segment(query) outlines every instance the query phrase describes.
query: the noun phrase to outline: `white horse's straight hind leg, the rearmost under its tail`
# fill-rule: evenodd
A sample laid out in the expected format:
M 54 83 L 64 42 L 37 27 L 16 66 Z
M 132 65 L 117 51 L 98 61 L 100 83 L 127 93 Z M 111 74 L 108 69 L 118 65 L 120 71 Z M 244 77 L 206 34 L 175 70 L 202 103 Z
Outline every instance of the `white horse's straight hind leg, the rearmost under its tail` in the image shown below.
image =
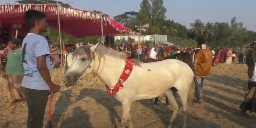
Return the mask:
M 178 91 L 180 96 L 181 104 L 182 104 L 182 112 L 183 112 L 183 127 L 187 127 L 187 113 L 188 113 L 188 94 L 183 91 Z

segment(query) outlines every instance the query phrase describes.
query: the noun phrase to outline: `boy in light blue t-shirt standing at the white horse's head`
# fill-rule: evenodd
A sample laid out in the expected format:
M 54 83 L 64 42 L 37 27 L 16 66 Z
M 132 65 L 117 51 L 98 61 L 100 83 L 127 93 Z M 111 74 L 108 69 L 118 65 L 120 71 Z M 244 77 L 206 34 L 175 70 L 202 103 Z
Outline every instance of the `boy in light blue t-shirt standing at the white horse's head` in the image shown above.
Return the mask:
M 51 80 L 48 41 L 41 36 L 48 30 L 45 14 L 37 10 L 27 10 L 24 20 L 30 28 L 22 43 L 25 73 L 21 88 L 28 106 L 27 128 L 42 128 L 49 91 L 56 93 L 60 86 Z

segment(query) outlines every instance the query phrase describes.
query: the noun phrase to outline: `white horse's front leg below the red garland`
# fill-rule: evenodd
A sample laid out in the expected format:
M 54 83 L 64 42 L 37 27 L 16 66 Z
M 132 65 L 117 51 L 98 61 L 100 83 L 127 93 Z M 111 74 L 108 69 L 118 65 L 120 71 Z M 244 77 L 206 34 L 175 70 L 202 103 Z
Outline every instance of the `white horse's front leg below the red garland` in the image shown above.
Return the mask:
M 122 102 L 122 105 L 123 105 L 123 117 L 121 120 L 121 127 L 125 128 L 128 123 L 128 128 L 133 128 L 131 116 L 129 114 L 131 105 L 132 105 L 132 101 L 124 101 L 124 102 Z

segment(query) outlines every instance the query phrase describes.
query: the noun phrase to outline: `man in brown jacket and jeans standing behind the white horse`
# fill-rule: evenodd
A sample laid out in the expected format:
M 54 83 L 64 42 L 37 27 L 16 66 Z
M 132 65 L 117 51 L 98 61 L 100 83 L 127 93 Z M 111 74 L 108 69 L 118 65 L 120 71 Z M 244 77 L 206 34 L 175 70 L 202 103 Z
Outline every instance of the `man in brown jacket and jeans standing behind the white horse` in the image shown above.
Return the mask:
M 196 69 L 194 82 L 196 85 L 197 103 L 194 106 L 204 107 L 203 86 L 206 76 L 210 73 L 213 53 L 206 48 L 205 38 L 197 39 L 197 50 L 194 53 L 193 63 Z

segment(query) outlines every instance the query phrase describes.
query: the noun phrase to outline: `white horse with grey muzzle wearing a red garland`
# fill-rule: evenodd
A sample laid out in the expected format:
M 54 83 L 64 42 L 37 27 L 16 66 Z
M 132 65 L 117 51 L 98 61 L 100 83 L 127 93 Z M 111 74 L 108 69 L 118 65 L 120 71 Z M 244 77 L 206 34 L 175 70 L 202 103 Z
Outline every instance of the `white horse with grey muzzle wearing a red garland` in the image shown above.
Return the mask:
M 99 44 L 99 43 L 98 43 Z M 176 59 L 169 59 L 153 63 L 141 63 L 133 61 L 127 70 L 127 54 L 117 50 L 107 49 L 101 45 L 80 46 L 73 53 L 73 62 L 65 74 L 66 86 L 71 86 L 81 76 L 92 72 L 99 74 L 99 78 L 106 83 L 110 89 L 114 89 L 117 83 L 121 83 L 114 96 L 123 105 L 123 116 L 121 127 L 133 128 L 132 119 L 129 114 L 131 103 L 140 99 L 152 99 L 165 93 L 174 106 L 174 112 L 170 120 L 169 128 L 172 128 L 181 108 L 174 98 L 172 89 L 177 89 L 183 110 L 183 128 L 187 127 L 188 97 L 193 90 L 193 71 L 185 63 Z M 125 69 L 125 71 L 124 71 Z M 125 72 L 125 73 L 124 73 Z M 120 80 L 120 76 L 129 74 L 128 79 Z M 126 79 L 126 78 L 125 78 Z M 121 82 L 120 82 L 121 81 Z M 189 94 L 190 93 L 190 94 Z

